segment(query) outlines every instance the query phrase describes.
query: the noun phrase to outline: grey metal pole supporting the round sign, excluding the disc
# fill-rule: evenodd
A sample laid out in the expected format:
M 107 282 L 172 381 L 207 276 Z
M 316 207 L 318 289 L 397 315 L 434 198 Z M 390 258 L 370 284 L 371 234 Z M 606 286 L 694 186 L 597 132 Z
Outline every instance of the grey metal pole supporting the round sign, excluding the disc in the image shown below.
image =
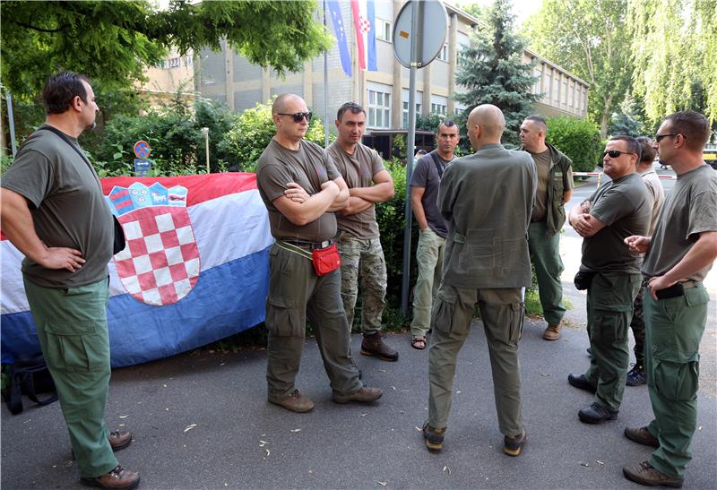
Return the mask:
M 411 2 L 410 76 L 409 76 L 409 133 L 406 142 L 406 226 L 403 228 L 403 276 L 401 313 L 408 316 L 410 289 L 410 176 L 413 174 L 413 155 L 416 153 L 416 69 L 419 59 L 419 17 L 423 16 L 423 2 Z

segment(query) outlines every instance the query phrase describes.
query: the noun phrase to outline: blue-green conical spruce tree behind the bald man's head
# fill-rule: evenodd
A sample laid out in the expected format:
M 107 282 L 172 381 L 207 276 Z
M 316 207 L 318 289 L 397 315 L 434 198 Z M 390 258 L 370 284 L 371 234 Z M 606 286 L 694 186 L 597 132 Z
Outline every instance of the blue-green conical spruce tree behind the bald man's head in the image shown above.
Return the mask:
M 510 9 L 510 0 L 495 0 L 486 13 L 488 27 L 479 26 L 471 46 L 464 47 L 458 55 L 455 80 L 467 91 L 455 94 L 454 99 L 466 106 L 459 116 L 466 150 L 470 142 L 465 137 L 465 122 L 473 107 L 480 104 L 499 107 L 505 115 L 503 142 L 517 145 L 520 125 L 538 99 L 532 93 L 536 81 L 531 75 L 532 64 L 522 62 L 527 43 L 516 34 Z

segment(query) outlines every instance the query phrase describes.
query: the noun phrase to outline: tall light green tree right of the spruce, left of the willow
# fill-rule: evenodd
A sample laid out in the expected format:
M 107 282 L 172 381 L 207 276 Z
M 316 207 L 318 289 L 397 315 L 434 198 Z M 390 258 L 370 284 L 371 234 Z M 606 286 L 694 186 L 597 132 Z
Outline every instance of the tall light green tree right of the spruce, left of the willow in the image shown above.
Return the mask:
M 625 0 L 545 0 L 527 22 L 531 47 L 590 83 L 588 114 L 608 134 L 633 73 Z

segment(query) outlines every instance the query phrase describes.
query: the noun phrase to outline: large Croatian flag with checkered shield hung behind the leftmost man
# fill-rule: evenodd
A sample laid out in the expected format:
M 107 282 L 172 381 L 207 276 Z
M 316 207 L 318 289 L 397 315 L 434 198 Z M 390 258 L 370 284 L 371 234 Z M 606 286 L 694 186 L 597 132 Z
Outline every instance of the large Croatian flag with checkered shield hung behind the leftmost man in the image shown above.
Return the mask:
M 101 179 L 125 230 L 109 269 L 112 365 L 198 348 L 264 319 L 273 238 L 254 174 Z M 2 361 L 39 353 L 22 254 L 2 239 Z

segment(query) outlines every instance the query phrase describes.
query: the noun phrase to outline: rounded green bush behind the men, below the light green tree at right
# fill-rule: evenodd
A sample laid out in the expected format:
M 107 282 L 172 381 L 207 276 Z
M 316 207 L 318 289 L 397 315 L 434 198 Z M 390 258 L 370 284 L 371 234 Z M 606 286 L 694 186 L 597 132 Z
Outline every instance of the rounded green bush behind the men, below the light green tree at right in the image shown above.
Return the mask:
M 592 172 L 600 163 L 603 144 L 598 127 L 587 119 L 548 117 L 546 141 L 573 160 L 574 172 Z

